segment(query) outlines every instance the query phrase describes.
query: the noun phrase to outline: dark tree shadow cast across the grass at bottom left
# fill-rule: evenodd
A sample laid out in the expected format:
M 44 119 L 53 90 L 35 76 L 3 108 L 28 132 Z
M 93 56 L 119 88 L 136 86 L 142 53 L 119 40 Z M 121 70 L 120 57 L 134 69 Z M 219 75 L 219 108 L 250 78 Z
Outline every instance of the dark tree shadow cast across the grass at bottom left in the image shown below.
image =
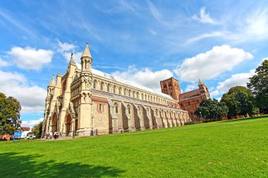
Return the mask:
M 81 163 L 35 161 L 42 155 L 0 154 L 0 177 L 120 177 L 125 172 L 114 167 Z

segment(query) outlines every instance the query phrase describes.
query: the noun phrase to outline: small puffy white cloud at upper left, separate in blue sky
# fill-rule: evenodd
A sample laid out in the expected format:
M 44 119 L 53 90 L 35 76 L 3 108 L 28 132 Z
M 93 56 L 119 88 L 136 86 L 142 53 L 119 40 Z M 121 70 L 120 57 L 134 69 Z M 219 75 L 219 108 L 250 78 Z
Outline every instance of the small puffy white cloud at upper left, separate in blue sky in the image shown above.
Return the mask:
M 51 63 L 53 56 L 53 51 L 51 50 L 34 49 L 31 47 L 26 47 L 25 49 L 13 47 L 7 53 L 18 68 L 26 70 L 40 70 L 43 65 Z

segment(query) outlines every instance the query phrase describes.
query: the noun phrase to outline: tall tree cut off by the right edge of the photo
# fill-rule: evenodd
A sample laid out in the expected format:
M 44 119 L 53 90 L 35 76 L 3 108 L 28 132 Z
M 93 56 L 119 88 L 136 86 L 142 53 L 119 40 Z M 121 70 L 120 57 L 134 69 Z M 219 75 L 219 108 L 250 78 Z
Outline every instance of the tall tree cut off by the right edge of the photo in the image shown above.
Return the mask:
M 256 68 L 256 75 L 250 77 L 247 83 L 248 88 L 252 91 L 256 99 L 256 106 L 268 112 L 268 60 Z

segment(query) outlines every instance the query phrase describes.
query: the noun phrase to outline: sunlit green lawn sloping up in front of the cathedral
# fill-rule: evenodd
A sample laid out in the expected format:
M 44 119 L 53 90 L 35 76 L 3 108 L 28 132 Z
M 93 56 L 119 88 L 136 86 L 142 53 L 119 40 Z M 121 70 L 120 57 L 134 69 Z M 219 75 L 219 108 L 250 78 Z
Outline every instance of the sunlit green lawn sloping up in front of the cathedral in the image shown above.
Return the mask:
M 268 177 L 268 116 L 0 143 L 0 177 Z

